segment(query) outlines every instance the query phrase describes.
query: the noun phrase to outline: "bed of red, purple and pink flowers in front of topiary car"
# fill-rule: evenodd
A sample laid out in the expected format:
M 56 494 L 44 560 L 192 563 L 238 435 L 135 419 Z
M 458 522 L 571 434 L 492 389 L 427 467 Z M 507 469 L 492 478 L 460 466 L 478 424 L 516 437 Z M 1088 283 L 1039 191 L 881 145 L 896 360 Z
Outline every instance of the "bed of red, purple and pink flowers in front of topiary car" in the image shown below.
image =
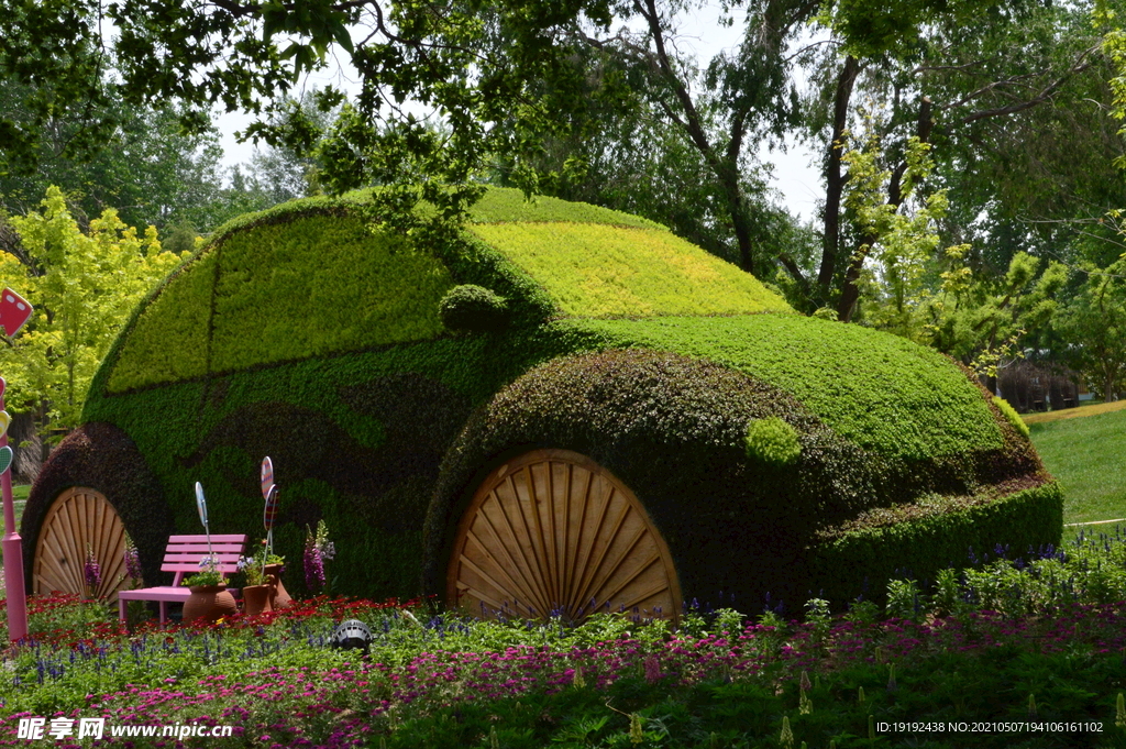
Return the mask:
M 778 601 L 748 619 L 689 601 L 676 628 L 320 597 L 129 632 L 98 604 L 41 597 L 34 639 L 3 656 L 0 744 L 27 746 L 19 720 L 39 716 L 231 725 L 209 740 L 247 747 L 1126 746 L 1120 535 L 969 554 L 933 582 L 894 580 L 883 610 L 814 598 L 801 621 Z M 367 654 L 329 648 L 347 618 L 370 627 Z

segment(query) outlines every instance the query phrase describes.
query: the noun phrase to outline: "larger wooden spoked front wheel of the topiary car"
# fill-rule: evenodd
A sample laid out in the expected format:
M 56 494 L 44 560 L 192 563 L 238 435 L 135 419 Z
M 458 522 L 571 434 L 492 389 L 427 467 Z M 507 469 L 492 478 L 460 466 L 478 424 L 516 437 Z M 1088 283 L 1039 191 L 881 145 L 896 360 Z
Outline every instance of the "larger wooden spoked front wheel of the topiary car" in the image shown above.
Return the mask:
M 539 449 L 477 488 L 455 537 L 447 601 L 486 616 L 676 619 L 669 549 L 633 492 L 588 457 Z

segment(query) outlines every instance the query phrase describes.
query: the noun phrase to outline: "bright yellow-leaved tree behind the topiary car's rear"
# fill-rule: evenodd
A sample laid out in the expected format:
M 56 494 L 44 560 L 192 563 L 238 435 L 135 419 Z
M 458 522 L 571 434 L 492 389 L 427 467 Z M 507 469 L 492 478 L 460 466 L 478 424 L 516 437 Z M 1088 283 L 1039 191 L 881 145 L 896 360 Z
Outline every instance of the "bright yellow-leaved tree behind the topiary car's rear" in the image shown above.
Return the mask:
M 0 252 L 0 284 L 35 314 L 0 346 L 0 376 L 8 410 L 34 413 L 41 433 L 57 436 L 78 426 L 90 381 L 129 313 L 182 258 L 161 250 L 154 228 L 138 237 L 111 208 L 83 232 L 57 187 L 41 211 L 8 221 L 24 257 Z

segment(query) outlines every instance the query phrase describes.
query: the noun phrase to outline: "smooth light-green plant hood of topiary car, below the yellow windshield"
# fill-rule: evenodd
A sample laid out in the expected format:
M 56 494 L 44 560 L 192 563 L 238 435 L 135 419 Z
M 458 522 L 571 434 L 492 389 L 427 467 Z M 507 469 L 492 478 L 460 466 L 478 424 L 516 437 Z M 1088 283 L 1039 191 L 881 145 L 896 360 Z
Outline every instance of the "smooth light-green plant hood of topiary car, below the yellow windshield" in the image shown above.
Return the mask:
M 980 386 L 933 349 L 796 314 L 565 320 L 591 348 L 651 348 L 731 366 L 792 393 L 846 439 L 897 458 L 999 449 Z

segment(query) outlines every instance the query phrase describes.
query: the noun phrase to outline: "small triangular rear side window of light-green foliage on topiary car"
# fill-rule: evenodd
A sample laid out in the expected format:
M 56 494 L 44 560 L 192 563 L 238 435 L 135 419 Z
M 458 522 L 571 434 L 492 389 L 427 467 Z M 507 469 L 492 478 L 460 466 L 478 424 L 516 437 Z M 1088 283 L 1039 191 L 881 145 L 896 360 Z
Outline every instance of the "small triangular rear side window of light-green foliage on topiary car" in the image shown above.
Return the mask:
M 207 372 L 215 256 L 184 266 L 136 320 L 125 339 L 109 391 L 198 377 Z

